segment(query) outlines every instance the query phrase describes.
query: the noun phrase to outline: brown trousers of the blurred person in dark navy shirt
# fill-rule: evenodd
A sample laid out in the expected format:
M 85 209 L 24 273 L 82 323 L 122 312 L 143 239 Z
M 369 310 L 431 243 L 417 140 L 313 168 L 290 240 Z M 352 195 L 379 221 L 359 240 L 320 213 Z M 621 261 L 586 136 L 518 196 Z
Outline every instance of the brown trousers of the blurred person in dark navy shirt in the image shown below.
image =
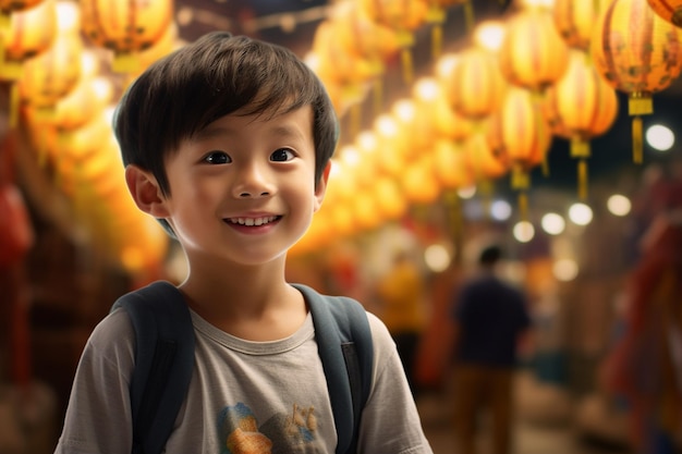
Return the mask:
M 458 364 L 454 372 L 456 454 L 475 454 L 478 421 L 489 417 L 492 453 L 512 451 L 513 370 Z

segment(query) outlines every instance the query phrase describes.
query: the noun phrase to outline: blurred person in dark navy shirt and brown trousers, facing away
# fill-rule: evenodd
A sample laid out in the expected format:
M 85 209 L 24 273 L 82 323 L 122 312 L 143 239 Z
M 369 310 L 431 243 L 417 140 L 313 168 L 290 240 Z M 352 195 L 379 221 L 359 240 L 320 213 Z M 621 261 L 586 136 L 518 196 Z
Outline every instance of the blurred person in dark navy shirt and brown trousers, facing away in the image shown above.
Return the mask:
M 453 295 L 454 429 L 458 454 L 476 452 L 482 417 L 491 422 L 492 452 L 509 454 L 519 346 L 527 342 L 525 295 L 497 273 L 502 249 L 480 253 L 479 272 Z

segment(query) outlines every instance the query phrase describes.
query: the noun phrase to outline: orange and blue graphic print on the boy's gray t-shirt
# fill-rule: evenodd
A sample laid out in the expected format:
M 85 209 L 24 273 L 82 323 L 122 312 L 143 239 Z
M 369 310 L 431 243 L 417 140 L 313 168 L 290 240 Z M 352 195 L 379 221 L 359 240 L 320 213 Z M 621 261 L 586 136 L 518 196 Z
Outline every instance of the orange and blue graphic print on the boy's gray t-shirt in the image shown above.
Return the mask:
M 293 404 L 292 412 L 276 414 L 261 426 L 241 402 L 218 415 L 220 454 L 321 453 L 316 432 L 313 406 Z

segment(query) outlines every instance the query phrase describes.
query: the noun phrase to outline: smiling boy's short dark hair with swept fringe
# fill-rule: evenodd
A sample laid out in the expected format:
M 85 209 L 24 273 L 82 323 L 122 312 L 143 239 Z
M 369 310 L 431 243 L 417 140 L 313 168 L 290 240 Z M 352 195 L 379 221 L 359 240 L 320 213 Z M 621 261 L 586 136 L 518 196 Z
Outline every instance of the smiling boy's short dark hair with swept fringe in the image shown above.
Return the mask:
M 147 68 L 123 95 L 113 131 L 123 163 L 150 171 L 170 195 L 165 160 L 183 139 L 240 109 L 275 118 L 305 106 L 313 108 L 317 186 L 339 138 L 320 79 L 284 47 L 212 32 Z

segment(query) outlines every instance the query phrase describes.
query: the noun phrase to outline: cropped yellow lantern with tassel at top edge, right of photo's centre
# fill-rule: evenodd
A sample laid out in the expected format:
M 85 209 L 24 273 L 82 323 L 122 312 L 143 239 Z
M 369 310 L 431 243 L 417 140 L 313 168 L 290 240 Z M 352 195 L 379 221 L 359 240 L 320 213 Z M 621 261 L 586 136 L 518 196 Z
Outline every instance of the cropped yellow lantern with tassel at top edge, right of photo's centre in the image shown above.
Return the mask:
M 401 49 L 403 81 L 412 83 L 414 32 L 426 21 L 424 0 L 361 0 L 361 8 L 377 24 L 394 30 Z

